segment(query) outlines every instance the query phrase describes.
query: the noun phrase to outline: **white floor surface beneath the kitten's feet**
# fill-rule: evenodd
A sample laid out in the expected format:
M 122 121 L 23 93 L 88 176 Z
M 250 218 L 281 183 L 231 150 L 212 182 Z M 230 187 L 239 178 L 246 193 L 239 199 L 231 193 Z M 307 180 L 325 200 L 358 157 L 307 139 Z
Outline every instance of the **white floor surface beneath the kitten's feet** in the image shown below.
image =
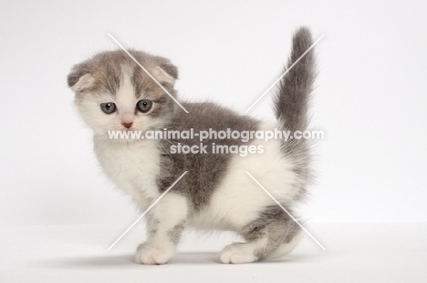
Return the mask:
M 132 261 L 144 238 L 135 227 L 0 227 L 0 282 L 427 282 L 427 223 L 310 224 L 286 258 L 224 265 L 218 252 L 229 234 L 187 232 L 172 261 Z M 234 238 L 238 239 L 238 238 Z

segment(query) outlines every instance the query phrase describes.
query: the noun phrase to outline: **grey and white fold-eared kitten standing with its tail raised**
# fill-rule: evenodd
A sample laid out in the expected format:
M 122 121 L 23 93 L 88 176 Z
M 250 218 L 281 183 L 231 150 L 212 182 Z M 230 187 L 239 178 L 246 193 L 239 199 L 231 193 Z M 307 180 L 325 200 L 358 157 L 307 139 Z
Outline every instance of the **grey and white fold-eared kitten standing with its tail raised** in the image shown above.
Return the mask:
M 293 37 L 287 66 L 297 61 L 312 45 L 305 27 Z M 161 56 L 130 50 L 152 76 L 173 97 L 178 78 L 176 66 Z M 108 51 L 84 61 L 71 70 L 68 86 L 75 92 L 75 104 L 93 130 L 94 149 L 101 167 L 115 184 L 129 193 L 145 211 L 185 171 L 147 214 L 148 239 L 136 253 L 142 264 L 164 264 L 173 256 L 185 227 L 234 231 L 245 243 L 224 248 L 224 263 L 247 263 L 277 258 L 298 242 L 300 227 L 266 195 L 260 184 L 292 213 L 306 194 L 310 177 L 310 154 L 305 139 L 251 139 L 210 136 L 203 140 L 205 152 L 172 152 L 181 146 L 199 146 L 192 138 L 111 139 L 109 131 L 151 130 L 200 131 L 273 130 L 295 132 L 307 129 L 307 102 L 314 82 L 315 59 L 307 53 L 283 77 L 275 96 L 276 124 L 242 116 L 213 103 L 181 104 L 172 98 L 123 51 Z M 217 146 L 255 146 L 256 152 L 213 153 Z M 194 147 L 195 148 L 195 147 Z M 243 148 L 243 147 L 242 147 Z M 261 149 L 261 150 L 259 150 Z

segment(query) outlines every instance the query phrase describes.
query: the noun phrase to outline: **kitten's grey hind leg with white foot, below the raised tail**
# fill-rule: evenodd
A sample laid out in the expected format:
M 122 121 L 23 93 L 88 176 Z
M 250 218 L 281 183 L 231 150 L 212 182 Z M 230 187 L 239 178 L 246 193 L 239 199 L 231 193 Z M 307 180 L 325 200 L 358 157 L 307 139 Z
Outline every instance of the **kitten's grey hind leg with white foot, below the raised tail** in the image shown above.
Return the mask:
M 274 255 L 295 223 L 280 207 L 268 207 L 255 221 L 243 227 L 240 234 L 245 243 L 234 243 L 223 249 L 223 263 L 248 263 Z M 289 250 L 290 251 L 290 250 Z

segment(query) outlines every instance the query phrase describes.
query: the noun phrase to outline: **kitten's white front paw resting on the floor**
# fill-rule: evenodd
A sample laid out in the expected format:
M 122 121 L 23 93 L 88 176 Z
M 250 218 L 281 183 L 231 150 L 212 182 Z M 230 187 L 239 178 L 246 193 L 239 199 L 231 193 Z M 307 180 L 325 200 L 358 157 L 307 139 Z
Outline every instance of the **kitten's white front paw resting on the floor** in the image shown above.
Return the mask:
M 173 252 L 171 248 L 153 248 L 148 244 L 141 244 L 137 248 L 135 261 L 141 264 L 165 264 L 173 257 Z

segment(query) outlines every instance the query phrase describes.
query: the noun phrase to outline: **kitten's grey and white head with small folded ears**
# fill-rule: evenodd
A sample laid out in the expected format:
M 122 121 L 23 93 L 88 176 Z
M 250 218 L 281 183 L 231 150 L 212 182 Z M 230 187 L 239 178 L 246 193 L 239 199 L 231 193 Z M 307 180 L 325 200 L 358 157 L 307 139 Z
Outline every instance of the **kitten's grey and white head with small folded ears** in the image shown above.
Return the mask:
M 176 66 L 160 56 L 130 50 L 130 54 L 168 92 L 178 78 Z M 146 131 L 166 126 L 176 104 L 123 51 L 108 51 L 73 66 L 68 86 L 76 93 L 80 115 L 95 134 L 109 130 Z

